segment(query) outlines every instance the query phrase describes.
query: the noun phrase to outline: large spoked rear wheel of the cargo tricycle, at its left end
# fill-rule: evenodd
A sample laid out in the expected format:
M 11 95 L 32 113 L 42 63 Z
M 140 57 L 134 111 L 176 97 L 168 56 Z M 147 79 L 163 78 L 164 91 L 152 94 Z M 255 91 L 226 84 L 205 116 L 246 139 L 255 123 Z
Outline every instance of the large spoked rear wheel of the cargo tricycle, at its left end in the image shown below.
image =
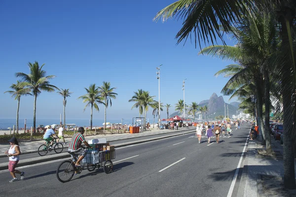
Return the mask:
M 66 183 L 72 179 L 75 173 L 75 166 L 71 160 L 60 163 L 57 168 L 57 178 L 60 182 Z

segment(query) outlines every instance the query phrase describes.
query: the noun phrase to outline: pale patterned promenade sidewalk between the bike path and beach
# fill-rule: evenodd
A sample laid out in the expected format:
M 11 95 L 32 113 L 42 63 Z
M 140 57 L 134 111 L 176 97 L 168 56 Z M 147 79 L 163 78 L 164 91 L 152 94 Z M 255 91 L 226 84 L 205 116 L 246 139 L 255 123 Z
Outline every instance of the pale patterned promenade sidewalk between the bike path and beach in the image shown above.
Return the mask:
M 86 141 L 94 139 L 94 138 L 106 138 L 108 142 L 112 141 L 119 141 L 119 140 L 125 140 L 125 139 L 131 139 L 131 138 L 139 138 L 139 137 L 145 137 L 150 135 L 159 135 L 159 134 L 166 134 L 166 133 L 174 133 L 174 132 L 181 132 L 184 130 L 193 129 L 194 127 L 189 128 L 183 128 L 180 130 L 169 130 L 169 129 L 162 129 L 162 130 L 151 130 L 151 131 L 144 131 L 141 133 L 121 133 L 121 134 L 100 134 L 100 135 L 91 135 L 91 136 L 85 136 Z M 69 142 L 71 137 L 66 138 L 66 141 Z M 60 140 L 60 142 L 63 142 L 63 140 Z M 20 142 L 20 149 L 22 152 L 22 155 L 25 154 L 31 154 L 31 153 L 37 153 L 39 146 L 43 143 L 43 140 L 38 141 L 32 141 L 32 142 Z M 68 148 L 68 145 L 66 145 L 66 148 Z M 7 145 L 1 144 L 0 145 L 0 158 L 7 157 L 4 152 L 9 149 L 9 144 L 7 142 Z

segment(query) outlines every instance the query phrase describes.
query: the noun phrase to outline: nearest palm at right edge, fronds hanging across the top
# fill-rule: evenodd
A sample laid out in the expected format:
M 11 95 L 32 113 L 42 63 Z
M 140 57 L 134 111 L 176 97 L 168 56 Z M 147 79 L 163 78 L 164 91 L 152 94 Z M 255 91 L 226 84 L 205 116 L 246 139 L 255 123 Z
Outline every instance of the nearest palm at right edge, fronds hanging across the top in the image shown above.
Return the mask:
M 259 12 L 271 11 L 276 12 L 276 19 L 282 27 L 279 35 L 281 35 L 282 54 L 285 54 L 284 62 L 279 65 L 278 71 L 281 75 L 283 92 L 283 108 L 284 108 L 284 185 L 285 188 L 294 189 L 295 168 L 294 153 L 289 148 L 293 146 L 293 139 L 296 139 L 294 123 L 296 122 L 296 98 L 293 96 L 296 90 L 296 63 L 293 51 L 292 30 L 294 31 L 294 19 L 296 17 L 296 2 L 291 0 L 223 0 L 217 2 L 204 0 L 178 0 L 171 5 L 165 7 L 157 13 L 154 20 L 163 18 L 182 18 L 182 29 L 178 32 L 176 38 L 178 43 L 186 40 L 191 32 L 194 32 L 195 46 L 199 40 L 208 40 L 208 42 L 216 42 L 217 37 L 223 40 L 223 33 L 220 31 L 220 25 L 225 32 L 229 32 L 231 25 L 237 19 L 241 19 L 248 14 L 249 18 L 254 18 L 254 8 L 259 7 Z M 255 10 L 256 11 L 256 10 Z M 258 10 L 257 10 L 258 11 Z M 241 14 L 244 13 L 244 14 Z M 216 36 L 217 35 L 217 36 Z M 210 41 L 209 41 L 210 40 Z M 289 84 L 289 85 L 288 85 Z M 290 85 L 294 84 L 294 85 Z M 293 98 L 293 99 L 291 99 Z M 287 113 L 285 113 L 285 111 Z M 293 115 L 291 114 L 293 113 Z

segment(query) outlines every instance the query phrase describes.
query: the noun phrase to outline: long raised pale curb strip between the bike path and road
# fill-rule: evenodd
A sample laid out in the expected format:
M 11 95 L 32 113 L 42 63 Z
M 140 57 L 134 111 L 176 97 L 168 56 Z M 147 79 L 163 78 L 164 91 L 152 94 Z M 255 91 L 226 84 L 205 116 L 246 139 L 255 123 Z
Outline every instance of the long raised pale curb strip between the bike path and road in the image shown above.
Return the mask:
M 191 131 L 185 131 L 185 132 L 182 132 L 182 133 L 166 135 L 166 136 L 162 136 L 162 137 L 154 137 L 154 138 L 138 140 L 138 141 L 133 141 L 133 142 L 125 142 L 125 143 L 121 143 L 121 144 L 114 144 L 114 146 L 115 146 L 115 148 L 125 147 L 125 146 L 129 146 L 129 145 L 141 144 L 141 143 L 160 140 L 160 139 L 165 139 L 165 138 L 169 138 L 169 137 L 185 135 L 185 134 L 193 133 L 193 132 L 195 132 L 195 129 L 193 131 L 192 130 Z M 111 142 L 111 141 L 109 141 L 109 142 Z M 37 151 L 32 151 L 32 152 L 37 153 Z M 28 152 L 26 154 L 30 154 L 30 153 Z M 25 155 L 25 153 L 22 154 L 22 155 Z M 7 157 L 7 156 L 4 156 L 4 157 Z M 70 156 L 69 153 L 60 153 L 60 154 L 49 155 L 49 156 L 44 156 L 44 157 L 28 158 L 28 159 L 20 160 L 19 163 L 17 164 L 17 167 L 36 164 L 36 163 L 41 163 L 41 162 L 46 162 L 46 161 L 51 161 L 51 160 L 57 160 L 57 159 L 61 159 L 61 158 L 70 158 L 70 157 L 71 156 Z M 0 170 L 6 170 L 6 169 L 8 169 L 8 162 L 0 163 Z

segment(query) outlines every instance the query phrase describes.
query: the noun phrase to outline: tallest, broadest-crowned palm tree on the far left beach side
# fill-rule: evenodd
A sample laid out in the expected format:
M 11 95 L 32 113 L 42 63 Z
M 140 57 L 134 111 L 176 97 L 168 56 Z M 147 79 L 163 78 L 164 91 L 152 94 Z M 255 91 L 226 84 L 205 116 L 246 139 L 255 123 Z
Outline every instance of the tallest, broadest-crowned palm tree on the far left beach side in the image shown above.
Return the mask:
M 55 90 L 59 90 L 58 87 L 51 85 L 49 83 L 49 79 L 55 78 L 55 76 L 50 75 L 46 76 L 46 71 L 42 70 L 43 66 L 45 64 L 42 64 L 39 66 L 38 62 L 34 62 L 33 64 L 31 62 L 28 63 L 30 74 L 27 75 L 25 73 L 16 73 L 16 77 L 20 77 L 22 79 L 22 82 L 18 84 L 18 87 L 21 88 L 21 90 L 18 91 L 20 94 L 25 94 L 32 92 L 34 95 L 34 117 L 33 117 L 33 130 L 34 133 L 36 132 L 36 101 L 37 96 L 41 93 L 41 91 L 46 92 L 54 92 Z

